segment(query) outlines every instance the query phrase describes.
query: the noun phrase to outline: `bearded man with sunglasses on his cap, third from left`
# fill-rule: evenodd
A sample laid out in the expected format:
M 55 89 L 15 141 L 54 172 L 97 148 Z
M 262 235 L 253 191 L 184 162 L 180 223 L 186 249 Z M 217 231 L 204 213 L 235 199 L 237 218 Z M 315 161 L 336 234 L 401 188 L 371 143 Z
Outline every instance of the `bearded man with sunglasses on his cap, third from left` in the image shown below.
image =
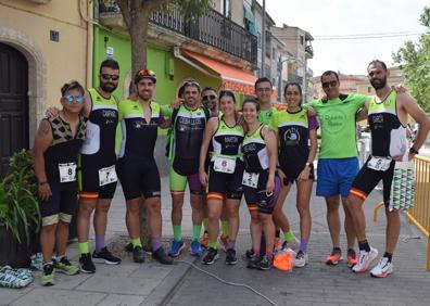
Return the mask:
M 166 123 L 160 104 L 152 101 L 156 76 L 150 69 L 137 72 L 134 79 L 137 100 L 124 100 L 118 104 L 122 127 L 119 158 L 116 164 L 118 178 L 126 199 L 126 224 L 132 245 L 135 263 L 144 262 L 140 241 L 140 201 L 143 197 L 148 209 L 152 258 L 172 265 L 162 246 L 161 181 L 154 160 L 159 126 Z

